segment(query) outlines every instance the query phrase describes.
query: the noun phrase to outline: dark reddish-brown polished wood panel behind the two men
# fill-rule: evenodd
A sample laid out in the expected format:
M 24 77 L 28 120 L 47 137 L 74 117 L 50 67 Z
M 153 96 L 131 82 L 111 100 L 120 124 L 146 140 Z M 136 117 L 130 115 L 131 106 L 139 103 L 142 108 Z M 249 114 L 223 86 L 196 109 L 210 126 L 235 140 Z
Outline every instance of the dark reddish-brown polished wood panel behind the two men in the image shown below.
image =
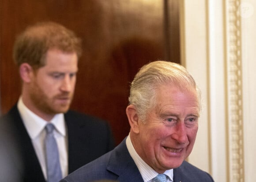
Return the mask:
M 117 143 L 129 132 L 128 83 L 138 69 L 180 62 L 178 0 L 0 0 L 0 17 L 1 113 L 20 95 L 15 36 L 38 21 L 59 22 L 83 39 L 71 108 L 108 120 Z

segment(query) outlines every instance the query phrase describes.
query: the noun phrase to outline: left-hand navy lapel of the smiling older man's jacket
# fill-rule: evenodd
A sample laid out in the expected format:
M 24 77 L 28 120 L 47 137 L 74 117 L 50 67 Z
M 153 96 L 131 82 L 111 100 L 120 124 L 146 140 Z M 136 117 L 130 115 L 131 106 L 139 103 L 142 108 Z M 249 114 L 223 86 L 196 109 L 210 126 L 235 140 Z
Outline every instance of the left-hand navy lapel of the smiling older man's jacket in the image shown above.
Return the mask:
M 143 182 L 139 169 L 130 156 L 125 144 L 126 138 L 112 153 L 109 158 L 107 170 L 115 173 L 119 177 L 117 181 L 120 182 Z M 131 175 L 132 174 L 132 175 Z

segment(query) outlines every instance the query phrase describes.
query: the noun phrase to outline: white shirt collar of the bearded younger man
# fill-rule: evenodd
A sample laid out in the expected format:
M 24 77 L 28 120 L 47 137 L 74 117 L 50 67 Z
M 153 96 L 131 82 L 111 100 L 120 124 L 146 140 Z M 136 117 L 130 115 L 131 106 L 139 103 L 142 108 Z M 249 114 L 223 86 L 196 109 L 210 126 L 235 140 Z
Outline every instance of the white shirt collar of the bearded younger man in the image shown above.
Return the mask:
M 44 130 L 45 125 L 49 122 L 55 126 L 56 131 L 58 131 L 60 135 L 63 135 L 63 136 L 66 135 L 63 113 L 56 114 L 53 117 L 53 119 L 48 122 L 46 120 L 43 120 L 41 117 L 39 117 L 32 111 L 30 111 L 30 109 L 28 109 L 24 105 L 21 97 L 19 98 L 19 101 L 18 101 L 18 110 L 31 139 L 38 137 L 41 131 Z

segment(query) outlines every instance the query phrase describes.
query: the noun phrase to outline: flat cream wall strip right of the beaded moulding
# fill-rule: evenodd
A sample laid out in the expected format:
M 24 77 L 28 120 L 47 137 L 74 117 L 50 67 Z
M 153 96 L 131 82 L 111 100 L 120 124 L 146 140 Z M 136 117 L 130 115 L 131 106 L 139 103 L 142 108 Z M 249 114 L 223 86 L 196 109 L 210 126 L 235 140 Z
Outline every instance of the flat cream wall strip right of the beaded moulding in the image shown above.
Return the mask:
M 256 181 L 256 1 L 242 0 L 245 182 Z

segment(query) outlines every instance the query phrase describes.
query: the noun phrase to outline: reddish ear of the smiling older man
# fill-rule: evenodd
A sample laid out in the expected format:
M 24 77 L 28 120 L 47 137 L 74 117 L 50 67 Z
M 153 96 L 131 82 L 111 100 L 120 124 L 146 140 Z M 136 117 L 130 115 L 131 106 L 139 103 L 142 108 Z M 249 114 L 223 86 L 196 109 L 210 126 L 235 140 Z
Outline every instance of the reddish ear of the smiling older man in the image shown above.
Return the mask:
M 134 105 L 127 106 L 126 115 L 131 126 L 131 131 L 136 134 L 139 134 L 139 117 L 137 115 L 136 108 Z

